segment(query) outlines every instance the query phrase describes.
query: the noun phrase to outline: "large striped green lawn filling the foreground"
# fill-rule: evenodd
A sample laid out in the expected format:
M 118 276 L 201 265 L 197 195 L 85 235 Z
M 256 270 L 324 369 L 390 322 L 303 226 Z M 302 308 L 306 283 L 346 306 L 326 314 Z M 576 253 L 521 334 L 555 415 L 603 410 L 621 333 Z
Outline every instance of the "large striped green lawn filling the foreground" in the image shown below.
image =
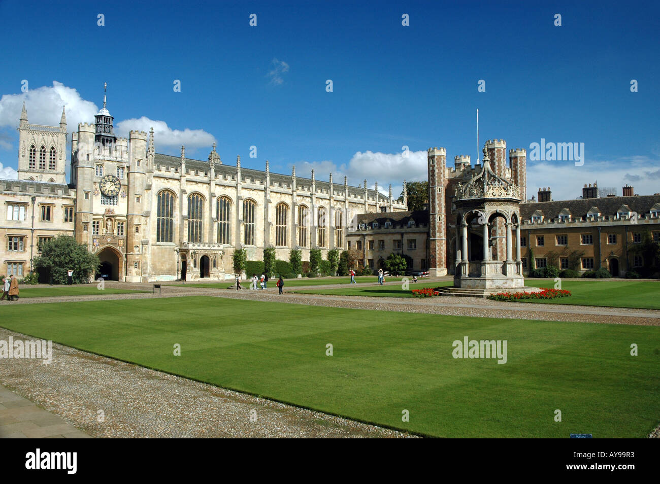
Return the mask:
M 660 421 L 660 328 L 653 326 L 202 296 L 3 311 L 0 325 L 11 330 L 426 435 L 645 437 Z M 452 343 L 464 336 L 507 340 L 508 362 L 454 359 Z M 631 343 L 639 344 L 639 356 L 630 355 Z M 327 344 L 333 356 L 326 356 Z M 561 422 L 554 421 L 556 409 Z

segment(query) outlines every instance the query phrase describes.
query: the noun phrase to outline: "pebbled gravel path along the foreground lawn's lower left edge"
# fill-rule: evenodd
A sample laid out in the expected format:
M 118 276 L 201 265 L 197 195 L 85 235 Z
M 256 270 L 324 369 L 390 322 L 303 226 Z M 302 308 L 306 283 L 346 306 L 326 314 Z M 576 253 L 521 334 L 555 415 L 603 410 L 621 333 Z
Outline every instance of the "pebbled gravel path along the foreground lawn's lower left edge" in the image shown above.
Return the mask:
M 49 365 L 0 359 L 0 381 L 92 437 L 415 437 L 59 344 Z

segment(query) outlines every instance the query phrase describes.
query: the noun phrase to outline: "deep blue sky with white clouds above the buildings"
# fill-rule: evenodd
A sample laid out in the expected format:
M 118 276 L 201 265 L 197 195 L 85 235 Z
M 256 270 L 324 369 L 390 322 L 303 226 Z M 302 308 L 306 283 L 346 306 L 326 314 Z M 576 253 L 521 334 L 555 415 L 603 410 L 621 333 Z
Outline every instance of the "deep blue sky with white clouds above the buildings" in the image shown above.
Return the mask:
M 583 166 L 529 161 L 530 195 L 550 185 L 574 198 L 595 179 L 654 193 L 659 14 L 657 2 L 1 1 L 0 163 L 16 168 L 22 100 L 30 123 L 56 124 L 67 104 L 70 133 L 93 121 L 108 82 L 117 131 L 160 121 L 158 152 L 184 142 L 206 159 L 215 140 L 227 164 L 268 159 L 273 171 L 315 167 L 400 191 L 424 178 L 430 146 L 447 148 L 450 166 L 458 154 L 474 163 L 479 107 L 481 143 L 585 143 Z

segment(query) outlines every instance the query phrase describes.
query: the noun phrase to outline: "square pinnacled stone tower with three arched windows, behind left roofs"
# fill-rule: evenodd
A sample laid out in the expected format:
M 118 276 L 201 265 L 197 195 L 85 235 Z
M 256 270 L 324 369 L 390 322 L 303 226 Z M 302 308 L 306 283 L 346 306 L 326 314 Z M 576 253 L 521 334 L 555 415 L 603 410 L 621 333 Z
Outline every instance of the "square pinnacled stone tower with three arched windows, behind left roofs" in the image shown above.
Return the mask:
M 18 125 L 18 179 L 67 183 L 65 150 L 67 115 L 62 107 L 59 127 L 28 124 L 28 111 L 23 103 Z

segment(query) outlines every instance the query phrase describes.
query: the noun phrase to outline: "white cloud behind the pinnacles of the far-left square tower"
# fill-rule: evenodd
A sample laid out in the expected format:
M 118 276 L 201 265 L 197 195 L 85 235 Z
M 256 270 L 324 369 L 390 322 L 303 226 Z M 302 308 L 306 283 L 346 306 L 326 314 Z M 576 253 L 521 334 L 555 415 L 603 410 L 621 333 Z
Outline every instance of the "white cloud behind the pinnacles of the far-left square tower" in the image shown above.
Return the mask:
M 71 127 L 77 127 L 78 123 L 93 123 L 94 115 L 98 113 L 96 104 L 82 99 L 77 90 L 53 80 L 52 86 L 3 95 L 0 98 L 0 127 L 18 127 L 23 102 L 28 110 L 28 121 L 36 125 L 59 125 L 62 106 L 65 106 L 69 131 L 73 131 Z

